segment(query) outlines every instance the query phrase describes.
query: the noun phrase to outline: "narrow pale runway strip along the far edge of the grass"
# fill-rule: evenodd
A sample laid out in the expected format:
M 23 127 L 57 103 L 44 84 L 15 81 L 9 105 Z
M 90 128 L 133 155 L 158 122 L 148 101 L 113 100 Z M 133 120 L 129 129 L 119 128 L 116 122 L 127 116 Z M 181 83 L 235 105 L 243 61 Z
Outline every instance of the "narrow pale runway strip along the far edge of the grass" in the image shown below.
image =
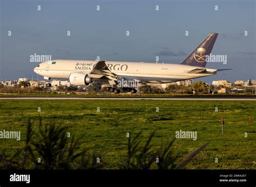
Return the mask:
M 256 98 L 161 98 L 161 97 L 0 97 L 4 99 L 16 100 L 254 100 Z

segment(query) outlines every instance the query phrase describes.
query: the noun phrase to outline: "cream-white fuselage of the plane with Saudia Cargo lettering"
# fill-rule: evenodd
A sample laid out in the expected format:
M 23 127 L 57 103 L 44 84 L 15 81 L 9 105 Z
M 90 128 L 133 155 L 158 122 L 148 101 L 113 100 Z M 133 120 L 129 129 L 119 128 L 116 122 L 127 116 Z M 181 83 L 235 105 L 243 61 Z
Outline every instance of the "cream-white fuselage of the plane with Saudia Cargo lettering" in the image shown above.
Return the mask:
M 40 63 L 34 71 L 44 77 L 69 78 L 70 74 L 75 72 L 89 74 L 96 63 L 97 61 L 90 60 L 52 60 Z M 183 64 L 119 61 L 105 61 L 105 63 L 114 74 L 146 83 L 170 83 L 216 74 L 216 69 L 208 68 L 204 73 L 188 73 L 201 67 Z

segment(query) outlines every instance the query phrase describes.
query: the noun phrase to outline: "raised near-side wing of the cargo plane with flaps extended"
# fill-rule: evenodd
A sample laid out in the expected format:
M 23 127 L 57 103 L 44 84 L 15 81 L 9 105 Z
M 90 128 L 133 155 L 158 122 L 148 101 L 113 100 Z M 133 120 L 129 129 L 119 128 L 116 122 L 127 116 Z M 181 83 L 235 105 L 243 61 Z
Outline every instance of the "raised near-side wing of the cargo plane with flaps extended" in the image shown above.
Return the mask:
M 109 79 L 110 83 L 114 83 L 115 81 L 122 79 L 122 77 L 112 73 L 109 70 L 109 68 L 107 68 L 105 61 L 98 61 L 95 67 L 91 70 L 90 77 L 92 78 L 106 77 L 107 79 Z

